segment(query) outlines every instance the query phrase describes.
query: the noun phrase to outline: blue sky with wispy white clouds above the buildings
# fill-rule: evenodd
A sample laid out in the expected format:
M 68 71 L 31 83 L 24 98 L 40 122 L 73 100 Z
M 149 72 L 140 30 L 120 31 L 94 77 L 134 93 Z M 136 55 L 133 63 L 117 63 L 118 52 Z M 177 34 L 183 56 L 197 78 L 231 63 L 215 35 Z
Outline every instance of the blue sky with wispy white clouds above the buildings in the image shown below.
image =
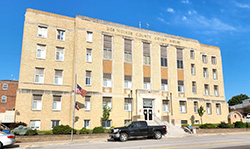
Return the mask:
M 226 100 L 250 96 L 249 0 L 5 0 L 0 6 L 0 79 L 18 80 L 27 8 L 84 15 L 219 46 Z

